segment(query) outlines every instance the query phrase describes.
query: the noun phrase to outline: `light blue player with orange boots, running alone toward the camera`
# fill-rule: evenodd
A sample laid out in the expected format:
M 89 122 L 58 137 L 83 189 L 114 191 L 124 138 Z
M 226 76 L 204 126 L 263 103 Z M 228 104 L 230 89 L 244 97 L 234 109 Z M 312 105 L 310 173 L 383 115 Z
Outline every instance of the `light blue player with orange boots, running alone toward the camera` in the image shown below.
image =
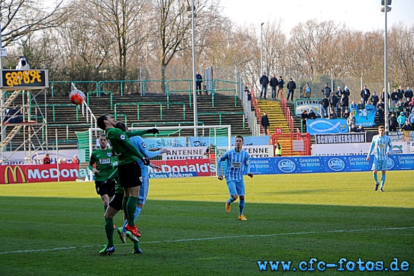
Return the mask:
M 230 213 L 230 204 L 237 197 L 239 200 L 239 219 L 247 220 L 243 211 L 245 209 L 245 181 L 243 179 L 243 170 L 246 169 L 247 175 L 253 177 L 250 173 L 249 154 L 242 149 L 244 143 L 243 137 L 236 137 L 236 146 L 226 153 L 217 161 L 217 172 L 219 180 L 223 180 L 221 163 L 227 160 L 226 182 L 230 198 L 226 201 L 226 212 Z

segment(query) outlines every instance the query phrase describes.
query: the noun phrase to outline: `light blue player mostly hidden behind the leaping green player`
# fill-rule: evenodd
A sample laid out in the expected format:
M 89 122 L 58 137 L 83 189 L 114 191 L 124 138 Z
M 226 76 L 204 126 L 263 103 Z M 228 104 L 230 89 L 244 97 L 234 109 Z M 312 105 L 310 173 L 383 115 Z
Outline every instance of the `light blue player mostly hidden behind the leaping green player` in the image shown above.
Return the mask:
M 116 122 L 115 123 L 116 128 L 121 129 L 122 131 L 128 131 L 127 126 L 125 125 L 125 123 L 123 122 Z M 159 151 L 149 151 L 147 148 L 146 143 L 144 142 L 144 139 L 141 138 L 140 136 L 133 136 L 130 138 L 130 141 L 132 143 L 132 145 L 146 158 L 153 158 L 156 157 L 160 154 L 163 153 L 169 153 L 169 150 L 167 149 L 162 149 Z M 141 168 L 141 177 L 142 177 L 142 184 L 139 187 L 139 196 L 138 196 L 138 201 L 136 203 L 136 209 L 135 209 L 135 216 L 134 216 L 134 221 L 136 220 L 136 218 L 139 216 L 139 214 L 141 213 L 142 208 L 144 207 L 145 204 L 145 200 L 147 199 L 148 196 L 148 189 L 150 186 L 150 179 L 149 179 L 149 175 L 148 175 L 148 166 L 144 165 L 144 162 L 142 162 L 141 160 L 137 160 L 139 167 Z M 149 166 L 156 168 L 156 169 L 161 169 L 161 167 L 155 166 L 154 164 L 150 164 Z M 121 238 L 121 241 L 123 243 L 125 243 L 126 240 L 126 236 L 127 236 L 127 231 L 125 229 L 125 226 L 127 225 L 128 220 L 125 220 L 124 225 L 122 227 L 119 227 L 116 231 L 119 234 L 119 237 Z M 134 241 L 134 253 L 138 253 L 140 254 L 142 251 L 139 248 L 139 245 Z

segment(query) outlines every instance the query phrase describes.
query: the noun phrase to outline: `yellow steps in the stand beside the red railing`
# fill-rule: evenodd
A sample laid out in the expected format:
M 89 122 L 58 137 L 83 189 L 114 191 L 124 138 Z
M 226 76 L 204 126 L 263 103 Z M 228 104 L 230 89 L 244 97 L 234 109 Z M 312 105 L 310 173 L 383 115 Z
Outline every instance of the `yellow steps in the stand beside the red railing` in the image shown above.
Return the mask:
M 290 133 L 282 106 L 278 100 L 257 99 L 257 105 L 262 113 L 261 115 L 263 115 L 263 112 L 267 113 L 270 123 L 268 128 L 270 134 L 275 133 L 275 129 L 278 127 L 282 129 L 282 133 Z

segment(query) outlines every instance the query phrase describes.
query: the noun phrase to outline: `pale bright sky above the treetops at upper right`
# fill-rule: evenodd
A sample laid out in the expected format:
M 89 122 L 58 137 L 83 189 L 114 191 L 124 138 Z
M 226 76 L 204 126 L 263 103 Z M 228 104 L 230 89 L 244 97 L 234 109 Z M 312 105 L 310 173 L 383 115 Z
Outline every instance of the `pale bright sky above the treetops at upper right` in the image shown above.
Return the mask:
M 224 14 L 237 24 L 257 24 L 282 18 L 286 34 L 309 19 L 343 22 L 354 30 L 369 32 L 385 27 L 381 0 L 221 0 Z M 392 0 L 387 29 L 402 21 L 414 23 L 414 0 Z

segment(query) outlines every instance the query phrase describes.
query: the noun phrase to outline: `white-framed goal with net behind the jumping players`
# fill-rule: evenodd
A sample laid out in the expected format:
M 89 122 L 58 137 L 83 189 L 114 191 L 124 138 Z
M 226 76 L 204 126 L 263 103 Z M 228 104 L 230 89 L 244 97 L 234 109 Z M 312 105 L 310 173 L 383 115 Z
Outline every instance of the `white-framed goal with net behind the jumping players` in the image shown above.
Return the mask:
M 129 127 L 128 130 L 149 128 L 151 126 Z M 159 134 L 142 136 L 147 148 L 150 151 L 167 148 L 170 153 L 151 158 L 151 163 L 162 168 L 157 170 L 150 167 L 151 178 L 216 176 L 217 158 L 231 146 L 230 125 L 157 126 L 156 128 Z M 85 168 L 88 171 L 88 175 L 79 177 L 79 180 L 94 179 L 92 172 L 87 168 L 91 153 L 99 147 L 97 139 L 101 133 L 103 131 L 98 128 L 76 132 L 79 145 L 79 169 Z

